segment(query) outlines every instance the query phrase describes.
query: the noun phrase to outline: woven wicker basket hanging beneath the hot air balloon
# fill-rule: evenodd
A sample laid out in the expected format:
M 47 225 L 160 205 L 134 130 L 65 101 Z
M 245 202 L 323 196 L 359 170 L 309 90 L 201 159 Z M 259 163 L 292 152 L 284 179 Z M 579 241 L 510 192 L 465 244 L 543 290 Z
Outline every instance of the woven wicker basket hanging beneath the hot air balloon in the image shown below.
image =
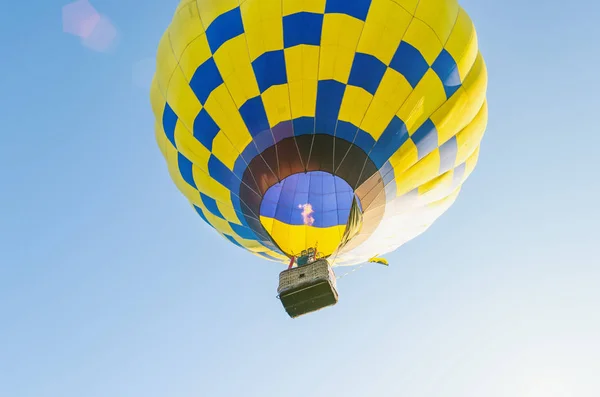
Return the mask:
M 291 318 L 338 302 L 335 273 L 325 259 L 281 272 L 277 293 Z

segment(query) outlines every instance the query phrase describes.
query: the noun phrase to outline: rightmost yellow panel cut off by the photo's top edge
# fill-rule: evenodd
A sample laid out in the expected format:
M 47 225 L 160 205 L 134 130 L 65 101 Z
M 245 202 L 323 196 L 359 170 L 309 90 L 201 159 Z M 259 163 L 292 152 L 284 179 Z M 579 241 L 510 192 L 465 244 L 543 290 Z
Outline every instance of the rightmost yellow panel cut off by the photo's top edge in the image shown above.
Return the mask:
M 415 17 L 431 26 L 439 40 L 445 43 L 454 27 L 458 11 L 456 0 L 421 0 Z

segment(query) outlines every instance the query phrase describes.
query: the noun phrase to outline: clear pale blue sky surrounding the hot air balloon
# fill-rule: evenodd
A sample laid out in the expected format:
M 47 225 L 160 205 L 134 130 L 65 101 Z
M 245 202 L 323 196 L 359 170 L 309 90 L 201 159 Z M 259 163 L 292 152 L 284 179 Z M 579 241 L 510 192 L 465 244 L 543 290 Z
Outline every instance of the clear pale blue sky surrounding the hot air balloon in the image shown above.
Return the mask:
M 168 178 L 148 92 L 175 0 L 0 14 L 1 397 L 597 397 L 597 1 L 463 0 L 490 83 L 479 166 L 426 234 L 301 320 L 277 265 L 231 247 Z

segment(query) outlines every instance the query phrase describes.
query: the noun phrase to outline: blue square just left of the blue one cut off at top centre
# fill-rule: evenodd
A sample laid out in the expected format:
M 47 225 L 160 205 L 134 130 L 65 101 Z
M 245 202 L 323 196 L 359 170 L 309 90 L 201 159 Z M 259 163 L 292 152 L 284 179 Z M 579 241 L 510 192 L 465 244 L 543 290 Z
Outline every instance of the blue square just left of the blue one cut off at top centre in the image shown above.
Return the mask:
M 283 17 L 283 46 L 294 47 L 300 44 L 318 46 L 321 44 L 323 14 L 299 12 Z

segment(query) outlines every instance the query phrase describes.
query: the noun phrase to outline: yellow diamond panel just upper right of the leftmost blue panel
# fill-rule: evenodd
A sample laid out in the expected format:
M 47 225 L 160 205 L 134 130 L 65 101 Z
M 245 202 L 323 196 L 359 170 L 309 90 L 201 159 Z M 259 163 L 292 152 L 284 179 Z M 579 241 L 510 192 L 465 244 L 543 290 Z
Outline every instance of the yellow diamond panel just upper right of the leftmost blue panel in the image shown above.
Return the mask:
M 202 105 L 179 68 L 175 69 L 169 81 L 167 102 L 179 121 L 183 122 L 188 130 L 193 131 L 194 120 L 200 113 Z

